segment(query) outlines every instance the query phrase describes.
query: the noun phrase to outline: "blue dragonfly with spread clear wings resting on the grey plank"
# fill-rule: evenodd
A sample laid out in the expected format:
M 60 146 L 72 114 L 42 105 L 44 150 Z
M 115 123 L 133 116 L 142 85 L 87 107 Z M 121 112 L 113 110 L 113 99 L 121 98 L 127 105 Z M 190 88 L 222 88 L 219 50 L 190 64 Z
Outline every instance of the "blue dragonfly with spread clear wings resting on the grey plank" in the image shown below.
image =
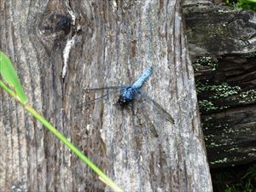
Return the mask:
M 142 73 L 142 75 L 135 81 L 135 83 L 130 85 L 121 85 L 121 86 L 108 86 L 103 88 L 91 88 L 91 89 L 85 89 L 85 91 L 91 91 L 91 90 L 119 90 L 119 99 L 117 104 L 119 105 L 119 108 L 124 109 L 127 106 L 133 107 L 132 103 L 137 102 L 148 102 L 149 104 L 153 104 L 153 106 L 156 108 L 156 110 L 160 113 L 161 117 L 166 119 L 167 121 L 174 124 L 174 119 L 172 118 L 171 114 L 166 112 L 166 109 L 162 108 L 159 103 L 155 102 L 150 96 L 148 96 L 146 93 L 144 93 L 141 88 L 143 84 L 146 82 L 146 80 L 149 78 L 149 76 L 152 73 L 152 67 L 148 67 L 146 71 Z M 105 96 L 108 96 L 109 93 L 102 95 L 100 97 L 97 97 L 96 99 L 90 100 L 88 102 L 85 102 L 85 104 L 94 102 L 98 99 L 101 99 Z M 147 109 L 143 108 L 142 111 L 146 111 Z M 146 116 L 146 115 L 144 115 Z M 156 131 L 154 131 L 154 134 L 157 135 Z

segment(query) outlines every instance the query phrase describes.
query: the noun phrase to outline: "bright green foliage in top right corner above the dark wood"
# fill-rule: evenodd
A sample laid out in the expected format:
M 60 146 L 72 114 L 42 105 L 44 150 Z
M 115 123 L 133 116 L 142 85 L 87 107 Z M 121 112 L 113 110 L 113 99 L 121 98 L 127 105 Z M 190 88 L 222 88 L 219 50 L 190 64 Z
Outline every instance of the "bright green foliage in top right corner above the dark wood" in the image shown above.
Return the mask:
M 247 9 L 256 11 L 256 0 L 226 0 L 234 9 Z

